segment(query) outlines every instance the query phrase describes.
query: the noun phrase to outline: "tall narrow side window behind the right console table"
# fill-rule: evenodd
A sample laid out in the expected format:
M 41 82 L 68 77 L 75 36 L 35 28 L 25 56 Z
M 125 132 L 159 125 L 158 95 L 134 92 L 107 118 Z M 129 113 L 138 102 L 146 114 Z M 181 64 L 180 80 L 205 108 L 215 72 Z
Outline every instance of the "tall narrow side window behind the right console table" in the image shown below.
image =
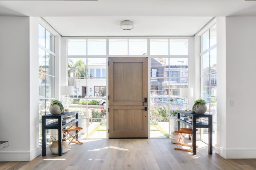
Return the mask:
M 217 44 L 216 24 L 200 36 L 201 99 L 207 102 L 207 113 L 213 115 L 213 145 L 216 143 L 217 120 Z M 207 119 L 202 119 L 207 122 Z M 208 143 L 208 129 L 201 129 L 201 140 Z

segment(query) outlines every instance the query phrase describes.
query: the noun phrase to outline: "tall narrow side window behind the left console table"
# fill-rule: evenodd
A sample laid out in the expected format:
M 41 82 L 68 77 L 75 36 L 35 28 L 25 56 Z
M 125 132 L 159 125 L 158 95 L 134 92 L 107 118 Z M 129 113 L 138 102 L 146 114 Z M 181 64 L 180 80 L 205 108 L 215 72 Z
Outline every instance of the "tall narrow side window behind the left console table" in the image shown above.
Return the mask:
M 55 99 L 55 37 L 40 24 L 38 30 L 39 141 L 42 145 L 41 116 L 50 113 L 50 101 Z M 51 141 L 52 133 L 47 130 L 47 142 Z

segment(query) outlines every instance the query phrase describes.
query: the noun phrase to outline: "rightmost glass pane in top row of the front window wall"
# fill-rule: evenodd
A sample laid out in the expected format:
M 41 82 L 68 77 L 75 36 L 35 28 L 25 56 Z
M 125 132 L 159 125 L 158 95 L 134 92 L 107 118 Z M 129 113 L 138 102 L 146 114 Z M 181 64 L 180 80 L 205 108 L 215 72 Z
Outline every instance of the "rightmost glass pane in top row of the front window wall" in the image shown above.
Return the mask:
M 188 39 L 170 39 L 170 55 L 188 55 Z

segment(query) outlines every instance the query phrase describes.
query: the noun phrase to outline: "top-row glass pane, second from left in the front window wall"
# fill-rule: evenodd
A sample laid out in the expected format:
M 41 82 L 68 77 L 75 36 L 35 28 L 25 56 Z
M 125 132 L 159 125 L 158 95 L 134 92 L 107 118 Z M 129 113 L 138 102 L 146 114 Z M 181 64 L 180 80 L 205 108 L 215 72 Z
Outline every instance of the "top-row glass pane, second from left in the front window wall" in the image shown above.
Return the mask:
M 88 55 L 106 55 L 106 39 L 88 39 Z

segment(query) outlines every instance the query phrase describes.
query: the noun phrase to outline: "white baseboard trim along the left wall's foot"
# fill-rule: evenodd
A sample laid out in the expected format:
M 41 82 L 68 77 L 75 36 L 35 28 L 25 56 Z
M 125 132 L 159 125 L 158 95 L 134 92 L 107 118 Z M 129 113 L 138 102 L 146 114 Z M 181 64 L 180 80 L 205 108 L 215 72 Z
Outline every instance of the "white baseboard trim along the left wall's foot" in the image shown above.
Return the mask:
M 0 161 L 30 161 L 41 154 L 41 147 L 30 152 L 0 152 Z

